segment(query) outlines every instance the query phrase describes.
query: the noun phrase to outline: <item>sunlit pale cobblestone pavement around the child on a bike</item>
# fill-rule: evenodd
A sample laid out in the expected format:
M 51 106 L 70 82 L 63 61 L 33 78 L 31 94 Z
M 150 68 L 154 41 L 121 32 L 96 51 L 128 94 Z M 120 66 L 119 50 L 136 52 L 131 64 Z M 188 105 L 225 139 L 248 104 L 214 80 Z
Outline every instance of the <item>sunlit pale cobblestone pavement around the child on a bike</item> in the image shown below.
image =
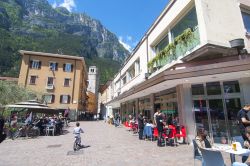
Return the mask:
M 156 142 L 138 140 L 125 127 L 103 121 L 80 122 L 85 131 L 82 143 L 73 151 L 75 123 L 61 136 L 5 140 L 0 144 L 0 166 L 177 166 L 194 165 L 192 146 L 157 147 Z M 196 165 L 199 161 L 196 161 Z M 199 165 L 199 164 L 198 164 Z

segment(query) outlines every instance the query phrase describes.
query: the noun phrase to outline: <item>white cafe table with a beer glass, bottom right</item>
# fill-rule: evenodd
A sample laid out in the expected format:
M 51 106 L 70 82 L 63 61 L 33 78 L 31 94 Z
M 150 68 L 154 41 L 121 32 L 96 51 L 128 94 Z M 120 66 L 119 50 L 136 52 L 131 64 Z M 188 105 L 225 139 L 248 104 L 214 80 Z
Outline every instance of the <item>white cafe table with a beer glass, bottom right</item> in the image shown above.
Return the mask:
M 237 149 L 235 151 L 232 149 L 232 147 L 230 145 L 218 145 L 218 146 L 215 145 L 214 147 L 212 147 L 212 149 L 218 150 L 221 152 L 225 152 L 225 153 L 229 153 L 231 163 L 235 162 L 235 155 L 239 155 L 239 156 L 249 156 L 250 155 L 249 149 L 240 148 L 240 149 Z

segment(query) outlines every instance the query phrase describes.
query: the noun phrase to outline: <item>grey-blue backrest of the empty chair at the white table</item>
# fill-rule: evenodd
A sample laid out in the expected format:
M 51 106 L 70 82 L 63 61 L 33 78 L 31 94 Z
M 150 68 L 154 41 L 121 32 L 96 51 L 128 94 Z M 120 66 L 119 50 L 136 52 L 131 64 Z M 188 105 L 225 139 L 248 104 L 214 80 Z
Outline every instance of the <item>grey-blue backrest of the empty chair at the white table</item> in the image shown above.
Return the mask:
M 206 166 L 225 166 L 224 159 L 220 151 L 200 148 L 203 161 Z

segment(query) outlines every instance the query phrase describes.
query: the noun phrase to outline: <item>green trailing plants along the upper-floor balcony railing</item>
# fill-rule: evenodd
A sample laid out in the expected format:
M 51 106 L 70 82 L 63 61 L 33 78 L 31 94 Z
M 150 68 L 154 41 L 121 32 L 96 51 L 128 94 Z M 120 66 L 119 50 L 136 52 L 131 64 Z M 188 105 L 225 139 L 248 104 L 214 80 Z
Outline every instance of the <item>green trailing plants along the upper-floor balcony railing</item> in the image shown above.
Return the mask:
M 159 63 L 163 58 L 169 63 L 172 60 L 176 60 L 176 46 L 178 44 L 184 44 L 187 46 L 188 42 L 193 38 L 193 31 L 188 28 L 183 31 L 182 34 L 177 36 L 172 43 L 169 43 L 162 51 L 160 51 L 153 59 L 148 62 L 148 68 L 150 71 L 153 70 L 154 65 Z

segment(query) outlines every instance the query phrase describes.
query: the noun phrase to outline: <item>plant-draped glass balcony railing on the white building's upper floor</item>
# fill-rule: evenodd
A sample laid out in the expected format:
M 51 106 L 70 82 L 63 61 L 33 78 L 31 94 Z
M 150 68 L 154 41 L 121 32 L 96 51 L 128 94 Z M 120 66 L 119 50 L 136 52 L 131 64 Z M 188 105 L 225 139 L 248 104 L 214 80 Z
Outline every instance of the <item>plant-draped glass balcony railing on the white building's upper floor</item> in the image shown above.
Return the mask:
M 186 29 L 181 35 L 174 39 L 173 43 L 167 45 L 148 63 L 150 73 L 162 68 L 166 64 L 183 57 L 188 51 L 191 51 L 200 44 L 200 35 L 198 27 Z

